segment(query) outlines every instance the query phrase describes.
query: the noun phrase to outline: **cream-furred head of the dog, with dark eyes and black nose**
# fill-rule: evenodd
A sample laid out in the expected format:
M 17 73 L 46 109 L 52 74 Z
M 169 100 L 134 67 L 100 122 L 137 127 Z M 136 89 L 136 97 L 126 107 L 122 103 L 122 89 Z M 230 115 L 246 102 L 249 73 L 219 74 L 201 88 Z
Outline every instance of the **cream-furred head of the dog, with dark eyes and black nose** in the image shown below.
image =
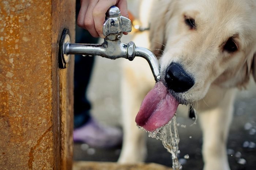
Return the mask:
M 180 103 L 202 99 L 211 84 L 243 87 L 256 80 L 256 1 L 158 0 L 151 50 L 161 79 Z M 163 50 L 163 51 L 162 51 Z

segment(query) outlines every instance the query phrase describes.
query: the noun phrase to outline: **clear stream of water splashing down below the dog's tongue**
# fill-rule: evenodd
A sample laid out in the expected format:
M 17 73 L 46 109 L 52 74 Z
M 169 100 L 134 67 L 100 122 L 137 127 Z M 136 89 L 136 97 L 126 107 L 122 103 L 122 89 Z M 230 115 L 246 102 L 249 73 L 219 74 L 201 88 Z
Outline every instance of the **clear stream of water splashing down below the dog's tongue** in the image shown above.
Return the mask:
M 177 158 L 178 143 L 180 139 L 178 137 L 176 116 L 174 116 L 165 126 L 156 129 L 153 132 L 147 132 L 149 137 L 160 139 L 162 141 L 165 149 L 172 154 L 173 170 L 180 170 L 182 166 L 179 164 Z

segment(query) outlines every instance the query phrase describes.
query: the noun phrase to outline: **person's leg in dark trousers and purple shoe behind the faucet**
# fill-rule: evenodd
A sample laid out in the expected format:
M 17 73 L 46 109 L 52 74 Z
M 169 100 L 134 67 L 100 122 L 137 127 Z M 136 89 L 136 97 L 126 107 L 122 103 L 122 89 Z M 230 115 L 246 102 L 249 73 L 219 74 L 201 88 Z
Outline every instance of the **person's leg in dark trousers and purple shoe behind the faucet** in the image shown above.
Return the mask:
M 77 3 L 78 5 L 79 3 Z M 79 11 L 79 5 L 76 11 Z M 97 43 L 98 39 L 76 26 L 76 43 Z M 94 57 L 75 56 L 74 71 L 74 141 L 95 147 L 120 145 L 122 132 L 113 127 L 101 126 L 90 115 L 91 104 L 86 91 L 93 69 Z

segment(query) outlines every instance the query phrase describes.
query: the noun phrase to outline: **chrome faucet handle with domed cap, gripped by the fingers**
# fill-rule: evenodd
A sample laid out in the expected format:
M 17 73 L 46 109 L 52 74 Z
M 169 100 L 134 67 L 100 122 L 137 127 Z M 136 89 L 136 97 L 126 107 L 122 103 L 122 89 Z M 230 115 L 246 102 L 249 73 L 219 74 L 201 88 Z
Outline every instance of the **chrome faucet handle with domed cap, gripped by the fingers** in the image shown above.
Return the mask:
M 106 12 L 106 20 L 103 24 L 103 35 L 131 32 L 132 23 L 127 17 L 121 16 L 120 9 L 112 6 Z

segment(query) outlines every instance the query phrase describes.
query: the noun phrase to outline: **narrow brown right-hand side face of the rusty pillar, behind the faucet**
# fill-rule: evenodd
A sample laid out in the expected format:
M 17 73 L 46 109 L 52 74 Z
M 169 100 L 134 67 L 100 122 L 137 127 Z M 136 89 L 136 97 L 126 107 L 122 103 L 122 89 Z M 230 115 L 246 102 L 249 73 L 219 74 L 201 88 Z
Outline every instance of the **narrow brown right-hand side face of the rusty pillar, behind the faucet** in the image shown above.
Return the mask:
M 66 69 L 58 68 L 59 40 L 64 28 L 69 28 L 71 41 L 75 42 L 75 0 L 52 1 L 52 75 L 57 77 L 53 80 L 53 90 L 59 94 L 53 94 L 53 103 L 57 108 L 53 108 L 55 114 L 54 121 L 60 120 L 59 128 L 54 123 L 54 130 L 60 131 L 60 140 L 55 141 L 55 146 L 60 145 L 60 167 L 61 170 L 72 168 L 73 158 L 73 82 L 74 82 L 74 56 Z M 60 104 L 59 104 L 60 103 Z M 59 104 L 59 105 L 58 105 Z M 57 132 L 56 132 L 57 134 Z M 55 147 L 57 149 L 57 147 Z M 58 151 L 58 150 L 56 150 Z

